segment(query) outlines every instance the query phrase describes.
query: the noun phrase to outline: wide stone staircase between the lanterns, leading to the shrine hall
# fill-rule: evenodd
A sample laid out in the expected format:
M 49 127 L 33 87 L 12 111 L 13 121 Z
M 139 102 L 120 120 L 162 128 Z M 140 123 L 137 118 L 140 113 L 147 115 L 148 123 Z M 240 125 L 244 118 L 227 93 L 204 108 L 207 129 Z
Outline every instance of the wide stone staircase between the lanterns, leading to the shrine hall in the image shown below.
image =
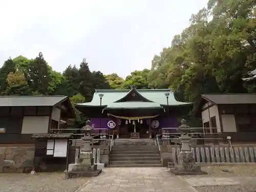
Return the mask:
M 153 139 L 116 139 L 109 167 L 161 167 Z

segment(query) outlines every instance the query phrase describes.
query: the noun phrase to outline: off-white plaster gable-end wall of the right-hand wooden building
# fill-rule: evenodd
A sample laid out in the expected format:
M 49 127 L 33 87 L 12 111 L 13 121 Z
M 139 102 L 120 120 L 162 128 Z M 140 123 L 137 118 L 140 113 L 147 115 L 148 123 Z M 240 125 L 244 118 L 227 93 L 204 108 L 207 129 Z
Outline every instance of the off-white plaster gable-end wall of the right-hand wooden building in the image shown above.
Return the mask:
M 203 108 L 205 108 L 206 106 L 207 106 L 207 104 L 204 105 Z M 209 117 L 214 117 L 214 116 L 216 116 L 216 124 L 217 124 L 217 127 L 219 128 L 219 129 L 217 129 L 217 132 L 220 133 L 221 132 L 221 129 L 220 129 L 221 124 L 220 124 L 218 106 L 214 105 L 214 106 L 211 106 L 209 109 L 202 111 L 203 123 L 209 121 Z

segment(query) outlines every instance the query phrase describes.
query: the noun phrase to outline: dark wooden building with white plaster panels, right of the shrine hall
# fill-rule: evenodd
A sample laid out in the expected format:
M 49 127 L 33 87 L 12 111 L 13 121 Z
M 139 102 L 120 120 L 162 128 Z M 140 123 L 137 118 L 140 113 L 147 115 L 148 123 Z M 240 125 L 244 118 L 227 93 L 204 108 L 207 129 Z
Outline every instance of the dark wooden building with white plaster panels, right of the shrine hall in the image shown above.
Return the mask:
M 203 94 L 197 116 L 207 133 L 232 143 L 256 142 L 256 94 Z

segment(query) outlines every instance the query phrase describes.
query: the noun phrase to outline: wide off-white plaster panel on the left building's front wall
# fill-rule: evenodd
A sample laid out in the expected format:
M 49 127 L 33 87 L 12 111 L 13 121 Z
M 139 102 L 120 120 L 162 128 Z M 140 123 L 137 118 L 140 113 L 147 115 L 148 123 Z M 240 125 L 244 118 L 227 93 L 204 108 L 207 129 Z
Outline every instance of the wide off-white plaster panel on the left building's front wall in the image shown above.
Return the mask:
M 22 134 L 48 133 L 49 116 L 25 116 Z

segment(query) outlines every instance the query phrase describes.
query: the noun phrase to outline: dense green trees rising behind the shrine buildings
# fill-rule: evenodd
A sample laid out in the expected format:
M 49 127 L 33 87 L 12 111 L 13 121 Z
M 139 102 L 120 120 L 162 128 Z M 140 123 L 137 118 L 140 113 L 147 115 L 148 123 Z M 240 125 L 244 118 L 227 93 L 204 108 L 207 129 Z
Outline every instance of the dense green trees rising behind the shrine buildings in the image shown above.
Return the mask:
M 130 89 L 134 84 L 138 89 L 172 88 L 179 100 L 197 104 L 203 93 L 256 92 L 255 81 L 242 81 L 256 68 L 255 7 L 254 0 L 209 0 L 172 45 L 155 55 L 150 70 L 134 71 L 125 79 L 91 72 L 86 59 L 60 74 L 42 53 L 35 59 L 9 58 L 0 69 L 1 94 L 68 95 L 72 102 L 83 102 L 90 101 L 95 89 Z

